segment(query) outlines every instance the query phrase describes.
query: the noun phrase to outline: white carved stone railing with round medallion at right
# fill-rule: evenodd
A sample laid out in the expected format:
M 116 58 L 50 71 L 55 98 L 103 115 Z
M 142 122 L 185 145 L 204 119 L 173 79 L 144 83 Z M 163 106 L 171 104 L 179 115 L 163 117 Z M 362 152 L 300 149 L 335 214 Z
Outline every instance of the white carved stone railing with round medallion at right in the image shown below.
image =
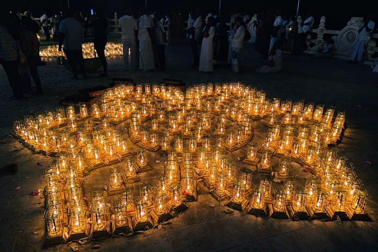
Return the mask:
M 324 35 L 332 36 L 334 40 L 333 55 L 340 59 L 349 59 L 354 45 L 357 42 L 358 30 L 363 23 L 363 18 L 352 17 L 348 22 L 347 26 L 341 31 L 337 30 L 327 30 L 325 28 L 325 17 L 320 18 L 319 26 L 317 29 L 312 29 L 307 37 L 307 44 L 309 50 L 305 53 L 315 54 L 323 47 Z M 298 16 L 298 24 L 302 23 L 302 18 Z M 315 38 L 316 35 L 316 38 Z M 365 64 L 377 64 L 378 58 L 373 58 L 375 52 L 378 51 L 377 47 L 378 34 L 373 33 L 371 39 L 368 41 L 364 49 L 364 63 Z

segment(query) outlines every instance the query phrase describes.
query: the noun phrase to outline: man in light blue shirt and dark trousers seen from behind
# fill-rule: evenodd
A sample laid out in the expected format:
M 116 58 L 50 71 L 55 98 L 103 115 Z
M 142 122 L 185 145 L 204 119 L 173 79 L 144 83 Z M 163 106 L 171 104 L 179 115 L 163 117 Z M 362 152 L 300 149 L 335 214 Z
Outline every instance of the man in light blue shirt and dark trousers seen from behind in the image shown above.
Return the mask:
M 83 78 L 86 79 L 85 65 L 83 59 L 83 26 L 79 21 L 74 18 L 71 10 L 67 11 L 67 18 L 62 20 L 59 29 L 59 51 L 62 51 L 62 45 L 64 43 L 64 53 L 71 65 L 73 77 L 72 80 L 78 80 L 76 64 L 79 63 L 80 71 L 83 74 Z

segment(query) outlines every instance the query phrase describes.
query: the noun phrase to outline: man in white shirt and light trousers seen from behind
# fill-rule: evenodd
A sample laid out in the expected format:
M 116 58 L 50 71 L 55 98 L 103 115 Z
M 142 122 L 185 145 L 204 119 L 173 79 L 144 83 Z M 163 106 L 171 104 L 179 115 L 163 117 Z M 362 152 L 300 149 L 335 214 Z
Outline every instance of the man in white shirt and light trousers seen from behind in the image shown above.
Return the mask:
M 135 51 L 135 34 L 138 32 L 138 25 L 131 16 L 131 10 L 127 9 L 125 15 L 118 21 L 118 27 L 122 31 L 122 47 L 124 50 L 124 70 L 135 70 L 136 51 Z M 128 51 L 130 50 L 131 65 L 128 65 Z

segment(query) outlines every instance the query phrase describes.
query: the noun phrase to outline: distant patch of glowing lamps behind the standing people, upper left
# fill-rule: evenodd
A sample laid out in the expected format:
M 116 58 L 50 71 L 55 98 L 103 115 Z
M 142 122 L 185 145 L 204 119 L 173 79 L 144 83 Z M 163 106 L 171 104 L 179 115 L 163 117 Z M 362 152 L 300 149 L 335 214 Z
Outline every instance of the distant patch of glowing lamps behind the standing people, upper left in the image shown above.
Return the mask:
M 97 57 L 93 42 L 82 43 L 83 58 L 92 59 Z M 122 44 L 107 42 L 105 46 L 105 56 L 124 55 Z M 39 51 L 40 57 L 61 57 L 65 56 L 64 51 L 59 52 L 58 45 L 49 45 Z

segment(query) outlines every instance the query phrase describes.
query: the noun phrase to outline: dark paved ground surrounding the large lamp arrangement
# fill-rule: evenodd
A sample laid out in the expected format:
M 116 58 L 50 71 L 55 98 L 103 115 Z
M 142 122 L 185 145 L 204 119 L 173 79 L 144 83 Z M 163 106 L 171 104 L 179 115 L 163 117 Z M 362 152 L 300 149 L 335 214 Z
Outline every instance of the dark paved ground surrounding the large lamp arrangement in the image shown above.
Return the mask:
M 378 176 L 377 158 L 377 74 L 364 65 L 349 65 L 342 60 L 314 60 L 308 57 L 285 57 L 282 72 L 277 74 L 256 73 L 254 69 L 264 63 L 252 46 L 246 48 L 243 72 L 232 75 L 229 68 L 215 68 L 213 74 L 189 69 L 192 56 L 187 41 L 174 40 L 166 48 L 167 70 L 142 73 L 122 70 L 122 57 L 108 59 L 107 79 L 99 79 L 99 72 L 89 73 L 87 81 L 72 81 L 71 74 L 55 59 L 48 60 L 45 67 L 39 67 L 45 95 L 29 96 L 25 101 L 16 101 L 5 73 L 0 69 L 0 136 L 4 139 L 12 130 L 12 118 L 28 113 L 44 111 L 58 105 L 66 95 L 77 94 L 77 90 L 95 85 L 108 85 L 112 77 L 132 78 L 140 83 L 158 83 L 162 78 L 181 79 L 192 85 L 207 82 L 241 81 L 263 89 L 268 98 L 303 99 L 306 102 L 334 106 L 347 112 L 347 129 L 338 146 L 355 165 L 358 177 L 363 181 L 372 198 L 367 212 L 372 221 L 343 221 L 342 225 L 320 221 L 289 221 L 255 218 L 235 211 L 223 213 L 222 203 L 217 202 L 200 186 L 198 201 L 189 203 L 189 210 L 162 230 L 149 230 L 143 235 L 130 238 L 118 237 L 98 242 L 98 251 L 377 251 L 378 250 Z M 266 129 L 254 125 L 254 141 L 261 142 Z M 164 157 L 149 154 L 155 170 L 143 176 L 149 181 L 162 171 Z M 230 156 L 231 157 L 231 156 Z M 245 153 L 236 152 L 232 158 L 243 159 Z M 154 159 L 162 160 L 159 164 Z M 276 160 L 277 161 L 277 160 Z M 372 162 L 371 165 L 366 161 Z M 0 144 L 0 168 L 9 163 L 18 163 L 15 174 L 0 175 L 0 251 L 40 251 L 45 234 L 42 221 L 43 199 L 29 196 L 32 190 L 44 185 L 43 169 L 48 158 L 32 155 L 14 139 Z M 40 163 L 42 165 L 38 165 Z M 238 162 L 239 165 L 240 162 Z M 290 175 L 299 175 L 301 183 L 308 176 L 301 167 L 294 167 Z M 258 180 L 257 175 L 254 177 Z M 107 184 L 96 170 L 86 178 L 84 194 L 100 189 Z M 20 187 L 19 190 L 14 190 Z M 111 202 L 109 202 L 111 203 Z M 214 208 L 208 203 L 214 203 Z M 33 232 L 37 232 L 34 234 Z M 93 245 L 93 244 L 92 244 Z M 90 251 L 91 246 L 79 251 Z M 70 251 L 65 245 L 44 251 Z

